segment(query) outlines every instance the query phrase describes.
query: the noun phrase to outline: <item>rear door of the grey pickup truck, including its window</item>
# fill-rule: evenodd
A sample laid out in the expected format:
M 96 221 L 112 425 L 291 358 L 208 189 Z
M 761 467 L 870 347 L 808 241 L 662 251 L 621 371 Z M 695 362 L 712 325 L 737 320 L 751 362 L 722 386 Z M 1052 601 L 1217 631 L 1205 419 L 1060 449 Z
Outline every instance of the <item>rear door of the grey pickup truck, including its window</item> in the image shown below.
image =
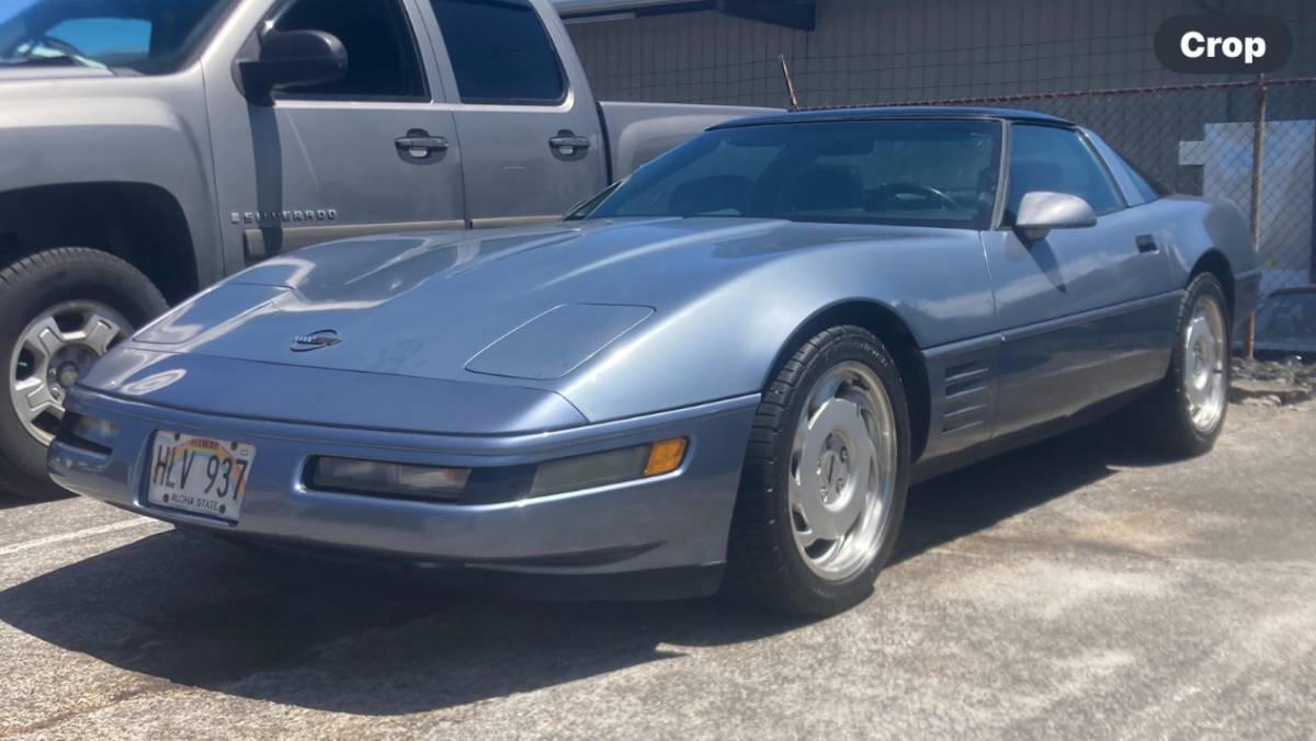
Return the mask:
M 474 226 L 553 221 L 608 184 L 599 112 L 547 3 L 416 3 L 432 12 Z

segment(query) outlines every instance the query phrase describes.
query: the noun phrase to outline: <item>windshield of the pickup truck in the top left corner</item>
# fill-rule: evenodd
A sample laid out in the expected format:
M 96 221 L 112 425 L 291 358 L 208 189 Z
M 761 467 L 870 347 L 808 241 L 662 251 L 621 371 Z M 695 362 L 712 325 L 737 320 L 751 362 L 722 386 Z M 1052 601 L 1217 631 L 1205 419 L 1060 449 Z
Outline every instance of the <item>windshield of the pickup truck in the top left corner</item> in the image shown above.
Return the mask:
M 0 67 L 172 72 L 234 0 L 3 0 Z

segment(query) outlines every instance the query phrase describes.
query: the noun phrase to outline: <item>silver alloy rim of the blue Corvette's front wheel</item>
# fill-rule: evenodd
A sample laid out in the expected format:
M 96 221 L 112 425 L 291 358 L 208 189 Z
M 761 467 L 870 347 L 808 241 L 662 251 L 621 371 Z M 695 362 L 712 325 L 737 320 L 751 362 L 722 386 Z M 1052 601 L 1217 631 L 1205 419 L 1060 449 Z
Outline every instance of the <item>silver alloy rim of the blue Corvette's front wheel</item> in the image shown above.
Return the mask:
M 791 446 L 795 545 L 819 576 L 848 579 L 873 563 L 890 530 L 896 422 L 871 369 L 845 362 L 809 391 Z

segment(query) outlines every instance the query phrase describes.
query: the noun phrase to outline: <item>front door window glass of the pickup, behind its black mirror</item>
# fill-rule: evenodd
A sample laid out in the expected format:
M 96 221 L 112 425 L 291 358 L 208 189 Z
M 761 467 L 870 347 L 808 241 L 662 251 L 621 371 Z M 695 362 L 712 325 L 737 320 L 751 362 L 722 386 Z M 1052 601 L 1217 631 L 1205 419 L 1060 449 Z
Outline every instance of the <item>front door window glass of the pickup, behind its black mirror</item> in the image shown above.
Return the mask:
M 349 99 L 421 99 L 425 78 L 400 0 L 299 0 L 279 16 L 279 30 L 322 30 L 347 49 L 341 80 L 286 93 Z

